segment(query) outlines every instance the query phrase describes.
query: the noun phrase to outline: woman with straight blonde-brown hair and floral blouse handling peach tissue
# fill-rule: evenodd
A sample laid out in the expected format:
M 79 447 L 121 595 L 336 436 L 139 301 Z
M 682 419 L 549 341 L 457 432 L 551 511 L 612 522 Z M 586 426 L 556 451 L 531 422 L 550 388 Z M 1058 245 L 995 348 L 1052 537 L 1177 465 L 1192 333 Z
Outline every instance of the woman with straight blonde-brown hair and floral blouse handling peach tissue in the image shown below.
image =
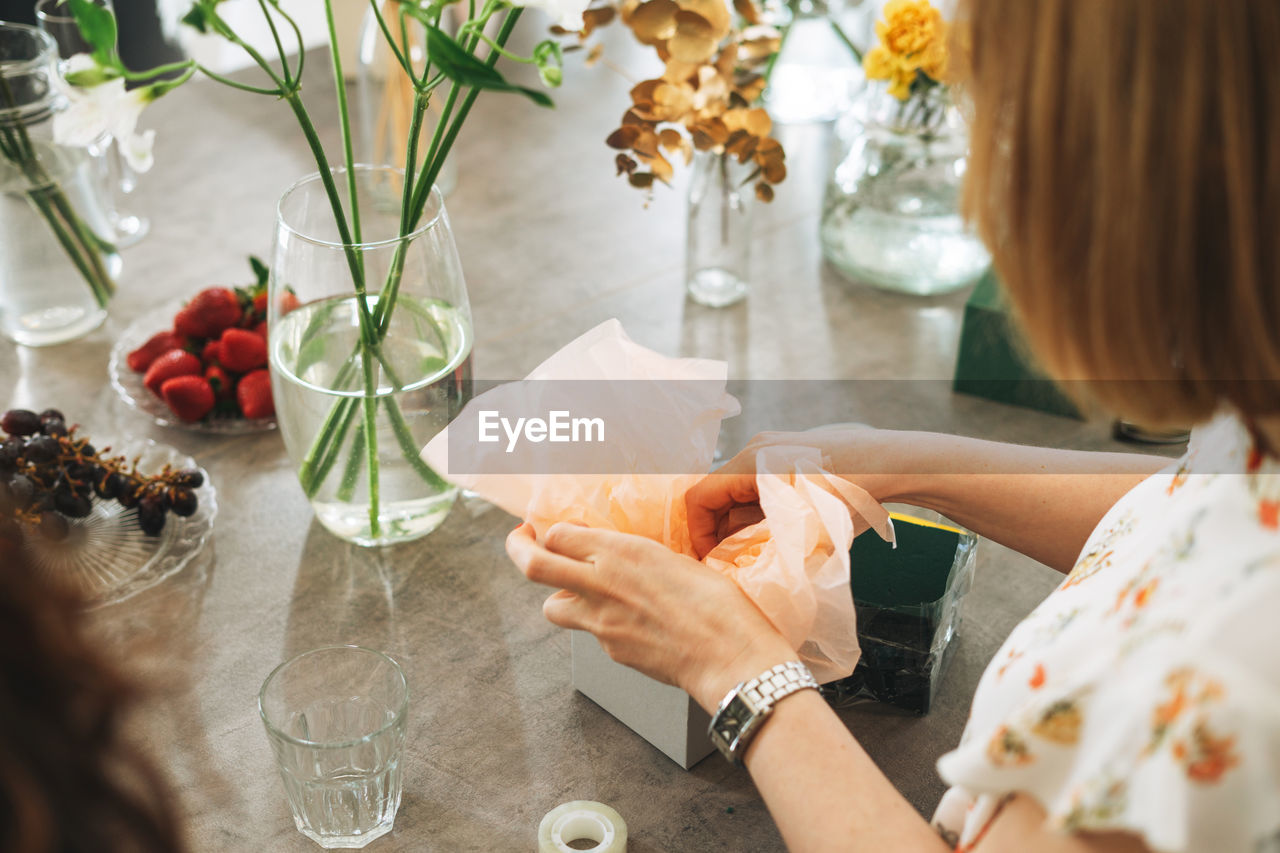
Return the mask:
M 804 443 L 1070 574 L 984 674 L 936 826 L 814 690 L 777 702 L 746 767 L 794 850 L 1280 849 L 1280 4 L 969 0 L 957 29 L 968 211 L 1041 362 L 1126 419 L 1201 426 L 1160 474 L 947 435 L 755 439 L 689 493 L 699 553 L 755 501 L 754 451 Z M 559 589 L 550 621 L 708 711 L 795 658 L 655 543 L 522 526 L 508 551 Z

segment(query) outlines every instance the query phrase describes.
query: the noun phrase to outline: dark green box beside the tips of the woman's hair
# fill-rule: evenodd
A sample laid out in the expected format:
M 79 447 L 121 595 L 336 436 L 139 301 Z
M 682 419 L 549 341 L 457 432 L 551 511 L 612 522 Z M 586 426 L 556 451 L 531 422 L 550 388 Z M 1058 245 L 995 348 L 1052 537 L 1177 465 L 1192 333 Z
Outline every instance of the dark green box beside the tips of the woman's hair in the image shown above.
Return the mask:
M 964 306 L 954 391 L 997 402 L 1084 419 L 1079 407 L 1023 353 L 993 272 L 979 279 Z

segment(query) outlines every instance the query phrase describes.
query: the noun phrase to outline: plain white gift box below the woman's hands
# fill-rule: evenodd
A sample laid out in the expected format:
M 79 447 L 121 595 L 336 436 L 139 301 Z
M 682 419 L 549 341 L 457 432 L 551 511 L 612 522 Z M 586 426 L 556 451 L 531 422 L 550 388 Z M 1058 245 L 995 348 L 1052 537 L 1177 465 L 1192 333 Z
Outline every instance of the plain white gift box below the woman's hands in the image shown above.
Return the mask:
M 572 631 L 573 686 L 689 770 L 716 751 L 710 716 L 687 693 L 616 662 L 594 637 Z

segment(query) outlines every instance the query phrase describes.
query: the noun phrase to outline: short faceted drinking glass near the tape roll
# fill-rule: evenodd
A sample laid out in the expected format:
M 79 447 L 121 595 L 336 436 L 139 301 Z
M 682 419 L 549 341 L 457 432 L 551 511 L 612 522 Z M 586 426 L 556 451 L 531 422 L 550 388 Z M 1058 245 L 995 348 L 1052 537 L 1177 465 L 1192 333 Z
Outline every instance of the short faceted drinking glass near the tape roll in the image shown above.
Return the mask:
M 266 678 L 257 707 L 300 833 L 333 849 L 392 830 L 408 711 L 396 661 L 357 646 L 303 652 Z

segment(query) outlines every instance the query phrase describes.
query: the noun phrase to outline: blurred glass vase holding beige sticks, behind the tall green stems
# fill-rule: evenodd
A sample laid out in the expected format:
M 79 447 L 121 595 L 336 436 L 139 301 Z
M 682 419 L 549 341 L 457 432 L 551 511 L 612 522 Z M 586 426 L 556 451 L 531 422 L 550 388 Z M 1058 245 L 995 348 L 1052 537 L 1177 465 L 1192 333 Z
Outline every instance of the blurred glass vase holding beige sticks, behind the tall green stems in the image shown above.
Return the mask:
M 392 32 L 398 32 L 399 3 L 381 0 L 383 19 Z M 453 12 L 445 6 L 440 13 L 440 27 L 451 31 Z M 415 67 L 421 67 L 426 58 L 426 32 L 421 23 L 412 18 L 406 20 L 408 36 L 408 55 Z M 451 32 L 452 35 L 452 32 Z M 360 92 L 360 158 L 371 165 L 404 165 L 404 152 L 408 150 L 408 132 L 413 117 L 413 87 L 396 55 L 387 45 L 387 38 L 378 26 L 374 10 L 365 13 L 360 28 L 360 65 L 357 68 L 357 91 Z M 422 131 L 417 147 L 417 165 L 422 165 L 430 149 L 431 134 L 440 120 L 440 100 L 433 97 L 422 120 Z M 440 173 L 435 175 L 435 186 L 442 195 L 449 195 L 458 186 L 458 167 L 454 156 L 444 159 Z

